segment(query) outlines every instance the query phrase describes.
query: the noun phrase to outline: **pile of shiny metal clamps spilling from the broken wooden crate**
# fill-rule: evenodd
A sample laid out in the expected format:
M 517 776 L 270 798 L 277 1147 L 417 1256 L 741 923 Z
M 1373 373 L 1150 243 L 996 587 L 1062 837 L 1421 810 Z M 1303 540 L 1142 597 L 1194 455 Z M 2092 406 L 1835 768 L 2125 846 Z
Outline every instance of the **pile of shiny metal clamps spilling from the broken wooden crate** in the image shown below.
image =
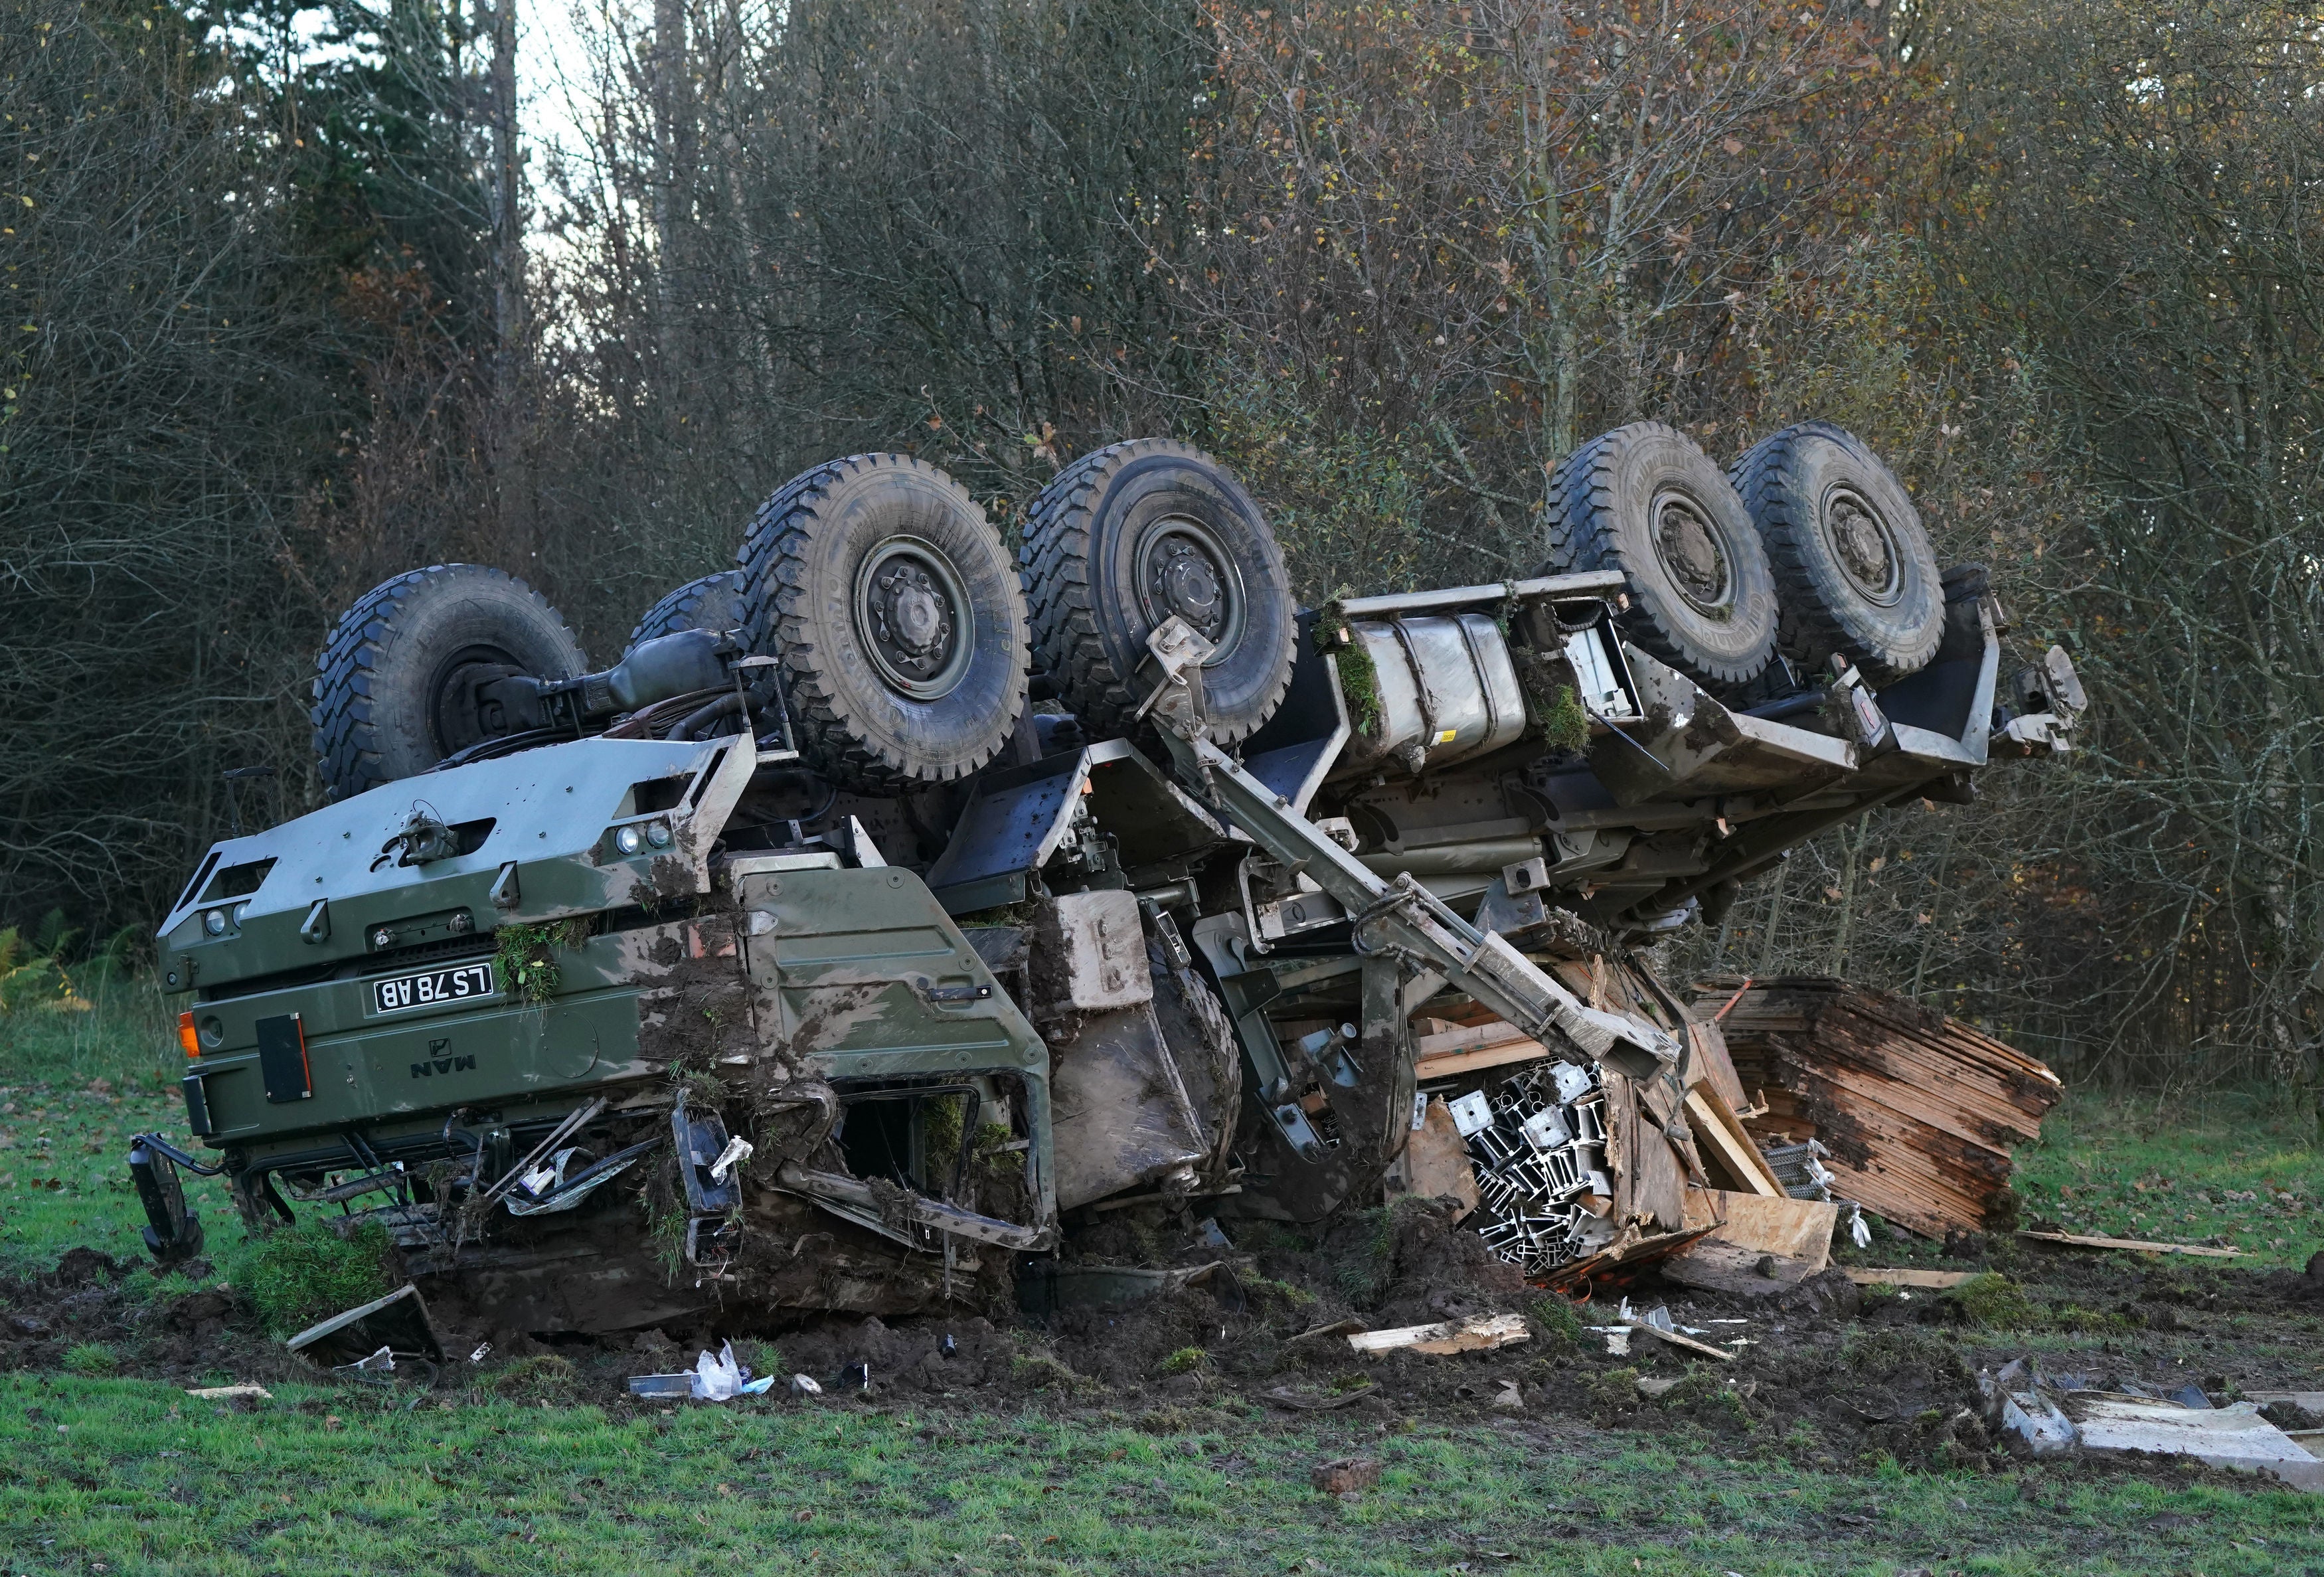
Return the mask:
M 1492 1099 L 1473 1089 L 1446 1103 L 1476 1166 L 1480 1236 L 1497 1259 L 1541 1275 L 1604 1236 L 1580 1201 L 1613 1194 L 1606 1180 L 1606 1087 L 1594 1068 L 1527 1068 Z

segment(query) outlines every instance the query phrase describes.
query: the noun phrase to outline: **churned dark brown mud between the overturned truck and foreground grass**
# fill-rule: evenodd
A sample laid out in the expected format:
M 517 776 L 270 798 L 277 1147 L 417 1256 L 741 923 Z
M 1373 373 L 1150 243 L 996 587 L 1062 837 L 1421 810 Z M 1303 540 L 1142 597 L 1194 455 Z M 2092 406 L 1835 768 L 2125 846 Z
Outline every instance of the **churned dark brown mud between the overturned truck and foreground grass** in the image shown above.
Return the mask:
M 1232 1247 L 1218 1247 L 1218 1229 Z M 2040 1342 L 2052 1373 L 2080 1366 L 2101 1384 L 2173 1391 L 2194 1380 L 2217 1400 L 2317 1384 L 2324 1277 L 2029 1252 L 2015 1240 L 1954 1250 L 1957 1268 L 1999 1268 L 2020 1282 L 2038 1335 L 1975 1326 L 1941 1294 L 1862 1294 L 1829 1270 L 1776 1298 L 1636 1284 L 1627 1289 L 1634 1310 L 1666 1305 L 1708 1340 L 1743 1333 L 1748 1345 L 1734 1363 L 1715 1363 L 1631 1335 L 1629 1354 L 1618 1356 L 1587 1326 L 1613 1324 L 1608 1305 L 1620 1303 L 1620 1289 L 1571 1303 L 1527 1287 L 1476 1236 L 1408 1201 L 1353 1212 L 1322 1233 L 1120 1212 L 1076 1236 L 1081 1261 L 1222 1268 L 1146 1303 L 1067 1308 L 1046 1319 L 978 1287 L 981 1308 L 925 1317 L 769 1324 L 711 1310 L 607 1338 L 502 1331 L 493 1356 L 469 1366 L 462 1356 L 481 1338 L 465 1328 L 472 1315 L 442 1308 L 453 1361 L 432 1387 L 442 1400 L 660 1407 L 630 1398 L 627 1377 L 688 1368 L 702 1347 L 732 1338 L 744 1363 L 823 1384 L 820 1398 L 779 1387 L 737 1405 L 909 1405 L 939 1435 L 955 1428 L 951 1419 L 1027 1407 L 1164 1435 L 1306 1428 L 1320 1426 L 1308 1414 L 1329 1414 L 1332 1428 L 1353 1431 L 1492 1421 L 1650 1433 L 1815 1468 L 2017 1470 L 1978 1417 L 1975 1373 L 2024 1354 L 2029 1340 Z M 209 1275 L 207 1266 L 198 1273 Z M 46 1275 L 0 1280 L 0 1368 L 88 1373 L 86 1354 L 70 1354 L 102 1345 L 116 1354 L 116 1373 L 184 1384 L 318 1377 L 260 1331 L 232 1289 L 211 1282 L 156 1298 L 146 1277 L 144 1266 L 72 1250 Z M 1462 1356 L 1357 1359 L 1339 1335 L 1313 1335 L 1339 1319 L 1385 1328 L 1476 1312 L 1525 1315 L 1529 1340 Z M 1722 1319 L 1748 1324 L 1713 1324 Z M 2173 1461 L 2054 1470 L 2171 1482 L 2205 1475 Z

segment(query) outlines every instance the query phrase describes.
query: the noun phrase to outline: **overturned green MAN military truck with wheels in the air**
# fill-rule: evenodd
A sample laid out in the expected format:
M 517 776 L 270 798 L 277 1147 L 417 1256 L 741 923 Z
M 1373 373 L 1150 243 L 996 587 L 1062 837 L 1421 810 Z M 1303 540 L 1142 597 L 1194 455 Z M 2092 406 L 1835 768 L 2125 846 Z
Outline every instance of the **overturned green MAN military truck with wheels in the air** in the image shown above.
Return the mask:
M 1608 432 L 1545 520 L 1527 578 L 1299 611 L 1183 444 L 1067 467 L 1018 562 L 855 455 L 602 671 L 521 581 L 397 576 L 318 660 L 332 804 L 160 929 L 214 1159 L 137 1140 L 149 1247 L 223 1168 L 467 1324 L 616 1331 L 990 1303 L 1125 1203 L 1448 1166 L 1536 1277 L 1680 1238 L 1748 1161 L 1638 948 L 2082 694 L 2057 648 L 2003 681 L 1985 571 L 1829 425 L 1727 474 Z

